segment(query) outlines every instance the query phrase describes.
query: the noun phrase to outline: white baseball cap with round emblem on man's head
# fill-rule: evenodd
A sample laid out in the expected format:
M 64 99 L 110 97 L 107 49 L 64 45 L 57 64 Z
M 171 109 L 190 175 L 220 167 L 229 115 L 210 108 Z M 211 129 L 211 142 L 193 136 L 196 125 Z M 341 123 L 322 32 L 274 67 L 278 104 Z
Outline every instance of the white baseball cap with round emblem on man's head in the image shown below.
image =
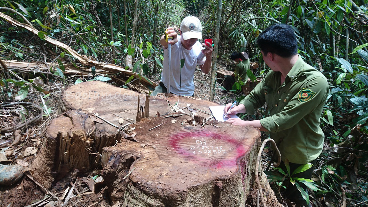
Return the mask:
M 197 17 L 185 17 L 181 22 L 180 30 L 185 40 L 191 38 L 202 39 L 202 24 Z

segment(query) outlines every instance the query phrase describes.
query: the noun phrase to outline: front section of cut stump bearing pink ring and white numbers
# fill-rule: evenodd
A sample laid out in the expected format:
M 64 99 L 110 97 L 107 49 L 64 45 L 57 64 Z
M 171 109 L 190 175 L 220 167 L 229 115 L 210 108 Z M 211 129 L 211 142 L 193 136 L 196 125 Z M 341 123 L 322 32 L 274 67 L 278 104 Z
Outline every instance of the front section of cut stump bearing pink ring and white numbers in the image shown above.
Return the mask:
M 112 200 L 124 206 L 245 206 L 259 130 L 218 122 L 201 128 L 187 119 L 142 120 L 133 125 L 138 143 L 104 148 L 102 176 Z

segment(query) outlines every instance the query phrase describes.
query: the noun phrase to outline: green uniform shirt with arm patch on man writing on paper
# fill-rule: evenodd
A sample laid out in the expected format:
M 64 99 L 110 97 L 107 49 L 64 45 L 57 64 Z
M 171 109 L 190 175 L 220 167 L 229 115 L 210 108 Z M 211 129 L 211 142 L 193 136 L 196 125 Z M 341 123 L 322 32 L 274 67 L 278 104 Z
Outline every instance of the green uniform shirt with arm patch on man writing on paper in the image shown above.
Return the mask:
M 254 109 L 266 102 L 269 116 L 260 121 L 276 144 L 279 143 L 282 160 L 307 164 L 323 148 L 325 136 L 319 125 L 329 92 L 328 82 L 300 56 L 282 85 L 280 78 L 280 72 L 269 71 L 240 103 L 248 114 L 254 114 Z

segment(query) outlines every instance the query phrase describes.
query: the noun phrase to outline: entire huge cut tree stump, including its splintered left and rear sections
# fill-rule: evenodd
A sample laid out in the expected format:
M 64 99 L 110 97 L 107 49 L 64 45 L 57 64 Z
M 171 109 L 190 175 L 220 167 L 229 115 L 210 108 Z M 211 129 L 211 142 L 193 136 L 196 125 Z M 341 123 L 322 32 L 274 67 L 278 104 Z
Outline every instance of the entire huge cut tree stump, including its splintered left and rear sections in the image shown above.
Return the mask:
M 72 170 L 102 164 L 111 200 L 124 206 L 255 205 L 258 129 L 207 120 L 216 103 L 175 95 L 151 97 L 149 117 L 130 130 L 112 126 L 135 119 L 138 98 L 145 103 L 143 94 L 99 81 L 68 88 L 60 105 L 66 112 L 52 120 L 26 170 L 50 188 Z M 272 190 L 263 192 L 278 204 Z

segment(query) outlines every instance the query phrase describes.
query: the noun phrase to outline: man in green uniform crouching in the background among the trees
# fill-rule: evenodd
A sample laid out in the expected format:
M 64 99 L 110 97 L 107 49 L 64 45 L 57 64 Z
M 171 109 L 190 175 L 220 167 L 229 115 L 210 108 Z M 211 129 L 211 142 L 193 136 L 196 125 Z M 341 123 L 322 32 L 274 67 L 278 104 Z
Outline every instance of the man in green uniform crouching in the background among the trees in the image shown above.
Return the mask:
M 247 83 L 247 70 L 250 67 L 248 54 L 245 52 L 233 52 L 233 54 L 230 55 L 230 59 L 234 60 L 238 64 L 235 66 L 235 71 L 231 76 L 224 76 L 224 88 L 226 91 L 230 91 L 233 88 L 234 83 L 238 81 L 243 81 L 244 84 Z

